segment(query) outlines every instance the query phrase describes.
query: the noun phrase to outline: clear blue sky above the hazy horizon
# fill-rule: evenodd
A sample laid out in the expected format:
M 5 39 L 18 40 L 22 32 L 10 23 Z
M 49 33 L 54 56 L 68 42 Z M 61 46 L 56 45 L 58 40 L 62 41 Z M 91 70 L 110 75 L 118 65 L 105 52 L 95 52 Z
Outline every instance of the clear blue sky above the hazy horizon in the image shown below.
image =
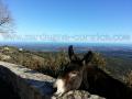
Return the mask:
M 130 43 L 132 35 L 132 0 L 4 0 L 16 24 L 16 35 L 55 35 L 55 41 L 88 36 L 82 42 L 98 42 L 99 37 L 127 37 L 119 43 Z M 90 38 L 89 38 L 90 35 Z M 96 38 L 92 41 L 92 36 Z M 69 38 L 63 42 L 81 42 Z M 58 38 L 58 40 L 57 40 Z M 36 38 L 41 40 L 41 38 Z M 25 38 L 25 41 L 36 41 Z M 106 38 L 107 40 L 107 38 Z M 116 40 L 100 42 L 116 42 Z M 41 40 L 44 42 L 45 40 Z

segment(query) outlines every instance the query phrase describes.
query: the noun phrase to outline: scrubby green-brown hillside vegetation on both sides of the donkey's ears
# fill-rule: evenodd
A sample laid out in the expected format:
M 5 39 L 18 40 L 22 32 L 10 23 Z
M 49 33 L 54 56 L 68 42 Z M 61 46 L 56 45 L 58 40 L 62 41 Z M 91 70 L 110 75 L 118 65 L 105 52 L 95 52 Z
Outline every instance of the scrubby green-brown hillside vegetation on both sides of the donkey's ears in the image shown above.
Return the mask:
M 82 56 L 78 53 L 78 56 Z M 63 72 L 65 65 L 69 62 L 68 54 L 62 52 L 31 52 L 12 46 L 0 47 L 0 61 L 23 65 L 28 68 L 35 69 L 45 75 L 57 77 Z M 106 73 L 116 78 L 123 80 L 130 87 L 132 86 L 131 59 L 124 57 L 109 57 L 100 53 L 95 53 L 91 64 L 99 66 Z

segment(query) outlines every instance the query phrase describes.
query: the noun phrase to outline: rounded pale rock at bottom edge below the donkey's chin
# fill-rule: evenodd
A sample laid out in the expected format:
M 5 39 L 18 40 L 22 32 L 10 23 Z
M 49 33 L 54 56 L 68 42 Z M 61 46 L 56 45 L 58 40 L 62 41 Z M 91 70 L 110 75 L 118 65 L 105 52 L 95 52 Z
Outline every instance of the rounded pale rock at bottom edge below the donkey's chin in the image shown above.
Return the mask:
M 53 96 L 52 99 L 106 99 L 106 98 L 100 97 L 98 95 L 90 95 L 88 91 L 84 90 L 73 90 L 65 94 L 62 97 Z

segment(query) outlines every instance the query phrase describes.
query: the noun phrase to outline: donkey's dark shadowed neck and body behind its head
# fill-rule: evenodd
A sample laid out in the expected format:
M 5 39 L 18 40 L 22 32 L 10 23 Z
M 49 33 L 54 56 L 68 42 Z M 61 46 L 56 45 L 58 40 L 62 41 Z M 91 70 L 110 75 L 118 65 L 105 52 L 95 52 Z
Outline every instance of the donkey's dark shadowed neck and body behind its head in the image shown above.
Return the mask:
M 86 89 L 86 85 L 89 85 L 86 90 L 91 94 L 100 95 L 108 99 L 132 99 L 132 89 L 102 69 L 87 66 L 85 73 L 87 74 L 84 75 L 82 89 Z

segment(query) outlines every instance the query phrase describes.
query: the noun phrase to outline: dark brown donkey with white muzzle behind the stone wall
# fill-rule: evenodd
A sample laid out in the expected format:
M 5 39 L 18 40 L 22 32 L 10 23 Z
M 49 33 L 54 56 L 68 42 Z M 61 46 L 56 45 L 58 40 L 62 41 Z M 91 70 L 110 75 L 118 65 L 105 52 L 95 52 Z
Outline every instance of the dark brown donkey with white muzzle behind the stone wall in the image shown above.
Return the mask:
M 68 55 L 70 62 L 54 82 L 55 96 L 63 96 L 69 90 L 84 89 L 107 99 L 132 99 L 132 90 L 129 87 L 90 64 L 94 56 L 91 51 L 80 59 L 70 45 Z

